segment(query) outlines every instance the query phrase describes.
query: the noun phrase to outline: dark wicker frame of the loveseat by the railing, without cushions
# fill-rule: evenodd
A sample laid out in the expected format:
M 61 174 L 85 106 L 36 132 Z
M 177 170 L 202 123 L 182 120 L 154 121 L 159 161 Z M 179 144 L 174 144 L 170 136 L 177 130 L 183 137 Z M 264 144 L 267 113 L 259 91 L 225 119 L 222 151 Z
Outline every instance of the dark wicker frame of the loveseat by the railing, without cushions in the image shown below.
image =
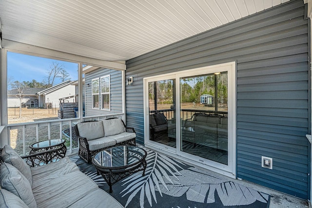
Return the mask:
M 107 118 L 106 120 L 108 120 L 108 119 L 115 119 L 115 117 L 114 118 Z M 129 132 L 129 133 L 135 133 L 136 132 L 134 128 L 126 127 L 126 125 L 123 122 L 123 120 L 121 120 L 121 121 L 122 121 L 122 125 L 123 125 L 123 128 L 124 128 L 125 132 Z M 83 121 L 83 122 L 95 122 L 95 121 Z M 124 145 L 136 146 L 136 137 L 135 137 L 135 138 L 123 141 L 123 142 L 119 142 L 119 143 L 117 143 L 114 146 L 105 147 L 105 148 L 98 149 L 98 150 L 95 150 L 95 151 L 90 151 L 87 138 L 86 137 L 82 137 L 82 136 L 79 135 L 79 131 L 78 131 L 77 125 L 75 125 L 74 130 L 75 130 L 76 135 L 77 135 L 78 140 L 79 140 L 78 155 L 80 156 L 80 158 L 85 160 L 87 163 L 91 163 L 92 157 L 94 155 L 96 155 L 99 151 L 103 151 L 103 150 L 106 150 L 106 149 L 109 149 L 109 148 L 112 148 L 112 147 L 115 147 L 115 146 L 124 146 Z

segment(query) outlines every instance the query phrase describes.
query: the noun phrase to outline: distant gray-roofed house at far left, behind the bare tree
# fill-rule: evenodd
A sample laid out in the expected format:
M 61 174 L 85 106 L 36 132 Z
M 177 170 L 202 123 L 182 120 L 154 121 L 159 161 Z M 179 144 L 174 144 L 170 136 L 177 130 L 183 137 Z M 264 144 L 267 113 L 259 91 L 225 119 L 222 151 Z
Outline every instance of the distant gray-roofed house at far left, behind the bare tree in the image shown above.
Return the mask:
M 8 108 L 20 107 L 20 101 L 22 107 L 38 108 L 39 107 L 39 96 L 38 92 L 44 90 L 44 88 L 23 88 L 21 96 L 17 89 L 8 91 Z M 21 100 L 20 100 L 21 97 Z

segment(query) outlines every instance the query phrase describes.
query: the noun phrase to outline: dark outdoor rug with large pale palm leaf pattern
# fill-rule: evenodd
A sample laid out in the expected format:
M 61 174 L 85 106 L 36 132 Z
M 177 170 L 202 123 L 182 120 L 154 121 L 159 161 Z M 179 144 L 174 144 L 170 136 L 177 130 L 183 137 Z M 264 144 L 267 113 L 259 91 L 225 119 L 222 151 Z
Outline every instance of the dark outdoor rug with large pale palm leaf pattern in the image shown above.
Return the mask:
M 110 193 L 126 208 L 268 208 L 270 195 L 242 186 L 212 171 L 198 169 L 164 154 L 147 151 L 145 176 L 134 173 Z M 73 159 L 99 188 L 109 192 L 93 165 Z

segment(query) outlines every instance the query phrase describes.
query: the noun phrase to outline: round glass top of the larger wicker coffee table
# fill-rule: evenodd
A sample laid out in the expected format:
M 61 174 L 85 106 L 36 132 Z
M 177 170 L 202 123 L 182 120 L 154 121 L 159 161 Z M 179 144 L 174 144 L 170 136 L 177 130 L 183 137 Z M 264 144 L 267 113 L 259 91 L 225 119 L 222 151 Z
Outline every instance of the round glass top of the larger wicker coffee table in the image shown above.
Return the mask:
M 146 151 L 136 146 L 117 146 L 98 152 L 93 163 L 107 168 L 129 167 L 140 163 L 146 157 Z

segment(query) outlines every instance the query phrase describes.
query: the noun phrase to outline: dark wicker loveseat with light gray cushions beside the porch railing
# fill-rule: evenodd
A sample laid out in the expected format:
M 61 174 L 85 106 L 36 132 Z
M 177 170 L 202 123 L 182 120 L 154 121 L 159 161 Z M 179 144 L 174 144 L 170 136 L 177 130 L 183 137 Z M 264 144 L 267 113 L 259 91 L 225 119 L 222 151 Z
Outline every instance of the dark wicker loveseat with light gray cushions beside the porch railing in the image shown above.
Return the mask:
M 114 146 L 136 146 L 134 128 L 126 127 L 121 118 L 84 121 L 74 129 L 79 139 L 78 155 L 87 163 L 91 163 L 91 158 L 99 151 Z

